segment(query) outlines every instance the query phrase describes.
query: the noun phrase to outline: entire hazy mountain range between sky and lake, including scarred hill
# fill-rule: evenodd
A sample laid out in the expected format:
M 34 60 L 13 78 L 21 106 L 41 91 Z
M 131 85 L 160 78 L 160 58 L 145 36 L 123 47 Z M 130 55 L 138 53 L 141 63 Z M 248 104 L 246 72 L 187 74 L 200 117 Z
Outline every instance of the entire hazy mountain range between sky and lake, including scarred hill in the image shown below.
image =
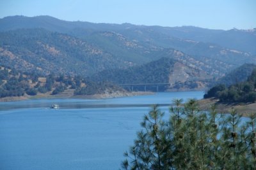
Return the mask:
M 256 29 L 93 24 L 49 16 L 0 19 L 1 65 L 95 81 L 203 88 L 242 64 L 256 64 L 255 46 Z

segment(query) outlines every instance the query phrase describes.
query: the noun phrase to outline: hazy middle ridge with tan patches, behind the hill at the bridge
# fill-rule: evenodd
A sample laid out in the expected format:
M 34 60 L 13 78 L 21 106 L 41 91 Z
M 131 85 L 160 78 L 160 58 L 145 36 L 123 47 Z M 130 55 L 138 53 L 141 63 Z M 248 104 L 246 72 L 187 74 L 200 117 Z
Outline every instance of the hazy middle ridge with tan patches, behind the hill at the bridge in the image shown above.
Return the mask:
M 98 45 L 109 53 L 115 53 L 116 56 L 124 59 L 132 58 L 140 64 L 143 63 L 141 61 L 149 62 L 159 59 L 159 55 L 166 57 L 170 53 L 169 50 L 175 49 L 193 57 L 195 62 L 204 63 L 202 65 L 220 72 L 216 76 L 222 76 L 246 62 L 256 64 L 255 57 L 250 53 L 223 48 L 212 43 L 175 38 L 147 28 L 125 29 L 118 32 L 95 31 L 93 33 L 86 29 L 77 29 L 72 32 L 72 35 Z

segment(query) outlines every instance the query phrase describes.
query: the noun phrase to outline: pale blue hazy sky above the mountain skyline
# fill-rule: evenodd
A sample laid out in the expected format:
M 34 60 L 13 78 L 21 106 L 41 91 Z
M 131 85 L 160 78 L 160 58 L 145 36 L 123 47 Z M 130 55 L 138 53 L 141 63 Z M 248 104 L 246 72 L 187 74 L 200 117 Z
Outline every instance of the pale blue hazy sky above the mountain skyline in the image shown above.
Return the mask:
M 10 15 L 50 15 L 97 23 L 252 29 L 256 27 L 256 0 L 0 0 L 0 18 Z

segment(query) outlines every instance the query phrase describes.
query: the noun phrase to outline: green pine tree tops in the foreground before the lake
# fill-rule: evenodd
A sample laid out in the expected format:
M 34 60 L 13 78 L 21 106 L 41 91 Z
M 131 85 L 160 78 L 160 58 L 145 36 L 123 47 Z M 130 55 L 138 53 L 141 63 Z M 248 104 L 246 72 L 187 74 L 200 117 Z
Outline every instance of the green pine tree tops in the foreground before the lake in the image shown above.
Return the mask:
M 235 110 L 220 115 L 175 99 L 168 120 L 153 106 L 141 122 L 123 169 L 256 169 L 256 114 L 241 122 Z

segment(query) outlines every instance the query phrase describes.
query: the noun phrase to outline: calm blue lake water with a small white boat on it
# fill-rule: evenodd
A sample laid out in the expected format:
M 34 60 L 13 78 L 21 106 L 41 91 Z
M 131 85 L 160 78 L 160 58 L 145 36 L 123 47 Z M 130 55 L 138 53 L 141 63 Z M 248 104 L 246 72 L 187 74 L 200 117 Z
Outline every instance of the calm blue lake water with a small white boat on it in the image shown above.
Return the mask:
M 204 92 L 160 92 L 114 99 L 0 103 L 0 169 L 119 169 L 150 104 L 202 99 Z M 49 107 L 60 105 L 59 110 Z

